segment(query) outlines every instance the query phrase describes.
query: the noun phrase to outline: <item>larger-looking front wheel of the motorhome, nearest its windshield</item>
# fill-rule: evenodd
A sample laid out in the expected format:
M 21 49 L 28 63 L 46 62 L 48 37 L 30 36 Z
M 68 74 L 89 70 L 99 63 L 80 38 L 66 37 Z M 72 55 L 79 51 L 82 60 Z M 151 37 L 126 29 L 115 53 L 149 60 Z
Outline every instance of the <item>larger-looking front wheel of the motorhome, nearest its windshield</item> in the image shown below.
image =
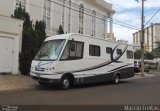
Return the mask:
M 60 88 L 67 90 L 71 87 L 71 79 L 68 76 L 64 76 L 61 79 Z

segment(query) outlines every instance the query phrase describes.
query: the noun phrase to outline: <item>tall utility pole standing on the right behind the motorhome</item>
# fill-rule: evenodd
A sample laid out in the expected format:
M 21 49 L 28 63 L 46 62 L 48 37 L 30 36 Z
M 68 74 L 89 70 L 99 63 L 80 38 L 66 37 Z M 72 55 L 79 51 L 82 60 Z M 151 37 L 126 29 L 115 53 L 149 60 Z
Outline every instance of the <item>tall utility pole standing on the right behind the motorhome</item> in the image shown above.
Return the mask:
M 141 25 L 141 76 L 144 77 L 144 1 L 142 0 L 142 25 Z

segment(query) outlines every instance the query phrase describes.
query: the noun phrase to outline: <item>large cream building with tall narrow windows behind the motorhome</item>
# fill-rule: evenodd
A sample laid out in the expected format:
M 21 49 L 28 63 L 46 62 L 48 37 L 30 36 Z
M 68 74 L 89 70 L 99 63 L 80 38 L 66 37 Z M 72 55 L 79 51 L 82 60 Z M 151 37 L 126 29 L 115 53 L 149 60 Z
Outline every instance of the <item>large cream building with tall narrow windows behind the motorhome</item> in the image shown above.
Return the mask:
M 3 0 L 3 2 L 1 5 L 4 10 L 0 13 L 11 16 L 21 3 L 29 12 L 33 23 L 36 20 L 45 21 L 48 36 L 57 34 L 59 26 L 62 25 L 65 33 L 115 39 L 112 23 L 112 15 L 115 12 L 112 4 L 104 0 Z

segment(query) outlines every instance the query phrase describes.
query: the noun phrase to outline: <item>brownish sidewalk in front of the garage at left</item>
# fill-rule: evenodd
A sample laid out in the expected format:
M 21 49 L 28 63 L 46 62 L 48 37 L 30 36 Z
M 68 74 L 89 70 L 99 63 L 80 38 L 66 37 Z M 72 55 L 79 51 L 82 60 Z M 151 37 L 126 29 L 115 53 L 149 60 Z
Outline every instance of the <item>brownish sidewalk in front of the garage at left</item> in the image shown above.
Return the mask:
M 32 88 L 37 84 L 30 76 L 0 74 L 0 91 Z

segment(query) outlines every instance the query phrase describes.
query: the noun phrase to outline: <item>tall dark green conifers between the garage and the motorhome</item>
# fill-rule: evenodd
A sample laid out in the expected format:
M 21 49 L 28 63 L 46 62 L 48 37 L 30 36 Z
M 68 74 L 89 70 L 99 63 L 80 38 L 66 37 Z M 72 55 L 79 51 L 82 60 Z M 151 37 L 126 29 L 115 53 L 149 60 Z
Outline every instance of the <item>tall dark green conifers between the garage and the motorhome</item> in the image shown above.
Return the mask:
M 12 17 L 24 20 L 22 52 L 19 54 L 19 69 L 22 74 L 28 75 L 30 72 L 31 62 L 46 38 L 45 23 L 43 21 L 36 21 L 35 28 L 33 28 L 30 16 L 25 12 L 25 9 L 22 9 L 21 4 L 17 9 L 15 9 Z

